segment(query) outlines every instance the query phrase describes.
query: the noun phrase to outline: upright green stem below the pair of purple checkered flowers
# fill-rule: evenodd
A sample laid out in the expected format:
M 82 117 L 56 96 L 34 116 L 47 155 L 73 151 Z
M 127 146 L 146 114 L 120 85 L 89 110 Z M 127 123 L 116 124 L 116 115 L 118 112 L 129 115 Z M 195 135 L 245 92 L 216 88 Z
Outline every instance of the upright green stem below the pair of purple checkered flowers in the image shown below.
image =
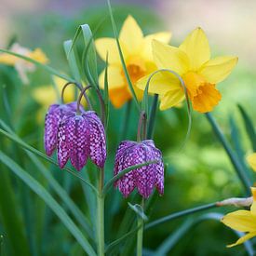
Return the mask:
M 98 255 L 104 255 L 105 242 L 104 242 L 104 196 L 102 195 L 102 189 L 104 186 L 104 169 L 100 168 L 99 177 L 99 195 L 98 195 L 98 222 L 97 222 L 97 236 L 98 236 Z

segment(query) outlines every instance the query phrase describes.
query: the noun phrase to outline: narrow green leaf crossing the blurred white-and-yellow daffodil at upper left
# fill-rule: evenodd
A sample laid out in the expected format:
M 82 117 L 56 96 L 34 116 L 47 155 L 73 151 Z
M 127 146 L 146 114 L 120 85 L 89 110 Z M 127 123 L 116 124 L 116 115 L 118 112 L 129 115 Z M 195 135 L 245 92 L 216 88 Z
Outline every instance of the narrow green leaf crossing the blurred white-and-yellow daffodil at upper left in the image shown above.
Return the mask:
M 13 55 L 13 56 L 16 56 L 22 60 L 25 60 L 25 61 L 30 61 L 32 63 L 34 63 L 34 65 L 36 65 L 37 67 L 39 68 L 42 68 L 44 70 L 46 70 L 49 74 L 54 74 L 54 75 L 57 75 L 69 82 L 75 82 L 73 78 L 65 75 L 65 74 L 61 74 L 59 71 L 53 69 L 52 67 L 46 65 L 46 64 L 42 64 L 38 61 L 34 61 L 33 59 L 29 58 L 29 57 L 26 57 L 26 56 L 23 56 L 23 55 L 20 55 L 19 53 L 16 53 L 16 52 L 13 52 L 13 51 L 10 51 L 10 50 L 7 50 L 7 49 L 0 49 L 0 52 L 4 52 L 4 53 L 7 53 L 7 54 L 10 54 L 10 55 Z

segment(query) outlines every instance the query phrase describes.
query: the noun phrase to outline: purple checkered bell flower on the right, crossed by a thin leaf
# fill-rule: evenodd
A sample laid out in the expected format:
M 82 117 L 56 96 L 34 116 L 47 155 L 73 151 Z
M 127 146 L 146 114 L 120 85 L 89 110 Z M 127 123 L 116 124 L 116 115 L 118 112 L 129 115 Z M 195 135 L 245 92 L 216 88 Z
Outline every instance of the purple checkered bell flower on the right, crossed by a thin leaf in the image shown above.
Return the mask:
M 152 140 L 122 141 L 115 155 L 114 175 L 125 168 L 154 160 L 158 162 L 129 171 L 115 182 L 115 187 L 118 187 L 125 197 L 128 197 L 135 187 L 144 198 L 152 194 L 154 187 L 163 195 L 164 164 L 162 154 Z

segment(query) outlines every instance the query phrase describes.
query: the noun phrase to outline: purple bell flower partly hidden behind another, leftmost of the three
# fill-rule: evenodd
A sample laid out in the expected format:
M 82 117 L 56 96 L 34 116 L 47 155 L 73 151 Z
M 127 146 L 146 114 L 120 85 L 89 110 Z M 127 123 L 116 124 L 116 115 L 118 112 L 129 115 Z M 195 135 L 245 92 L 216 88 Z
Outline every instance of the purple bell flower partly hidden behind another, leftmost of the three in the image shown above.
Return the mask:
M 49 106 L 45 118 L 45 150 L 48 156 L 52 155 L 57 147 L 57 133 L 64 115 L 75 112 L 76 102 L 69 104 L 52 104 Z M 82 111 L 82 106 L 81 106 Z

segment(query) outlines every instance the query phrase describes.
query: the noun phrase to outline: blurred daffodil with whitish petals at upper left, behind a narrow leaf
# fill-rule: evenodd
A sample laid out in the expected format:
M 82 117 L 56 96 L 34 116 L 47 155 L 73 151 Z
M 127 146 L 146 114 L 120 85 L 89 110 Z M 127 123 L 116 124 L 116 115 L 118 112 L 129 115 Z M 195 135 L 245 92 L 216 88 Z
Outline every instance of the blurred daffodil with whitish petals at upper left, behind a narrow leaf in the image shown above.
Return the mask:
M 20 47 L 18 43 L 15 43 L 12 45 L 12 47 L 10 47 L 10 51 L 19 53 L 20 55 L 29 57 L 34 61 L 38 61 L 43 64 L 46 64 L 48 62 L 47 56 L 40 48 L 35 48 L 34 51 L 32 51 L 29 48 Z M 33 72 L 35 70 L 35 65 L 32 62 L 22 60 L 16 56 L 7 53 L 0 54 L 0 63 L 14 66 L 17 72 L 20 74 L 20 79 L 24 84 L 29 83 L 26 73 Z

